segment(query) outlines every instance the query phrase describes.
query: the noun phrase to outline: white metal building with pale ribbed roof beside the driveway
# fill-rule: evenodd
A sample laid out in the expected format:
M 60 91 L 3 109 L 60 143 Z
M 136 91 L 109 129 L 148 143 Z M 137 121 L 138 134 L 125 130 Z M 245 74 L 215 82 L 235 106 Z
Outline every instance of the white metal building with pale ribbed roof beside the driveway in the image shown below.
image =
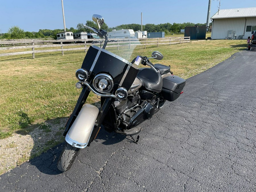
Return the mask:
M 256 7 L 221 9 L 211 20 L 212 39 L 247 39 L 256 31 Z

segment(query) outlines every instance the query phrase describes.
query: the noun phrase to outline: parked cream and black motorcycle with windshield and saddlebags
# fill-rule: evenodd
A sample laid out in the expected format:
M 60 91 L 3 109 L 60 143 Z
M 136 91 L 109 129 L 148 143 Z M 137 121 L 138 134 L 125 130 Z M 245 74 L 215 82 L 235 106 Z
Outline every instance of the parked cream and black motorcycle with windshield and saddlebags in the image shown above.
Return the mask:
M 111 45 L 107 46 L 108 33 L 100 28 L 104 18 L 93 15 L 92 20 L 99 29 L 86 27 L 102 40 L 92 42 L 81 69 L 76 71 L 79 80 L 76 87 L 82 91 L 63 133 L 66 143 L 57 163 L 62 172 L 71 168 L 79 150 L 90 146 L 101 127 L 130 136 L 134 143 L 138 143 L 139 136 L 135 139 L 133 135 L 141 131 L 139 125 L 152 118 L 166 100 L 176 100 L 186 83 L 173 75 L 170 66 L 149 61 L 163 59 L 158 51 L 149 58 L 137 55 L 131 59 L 133 50 L 140 44 L 135 37 L 117 42 L 111 40 Z M 148 67 L 139 68 L 139 64 Z M 100 96 L 100 109 L 85 104 L 90 91 Z

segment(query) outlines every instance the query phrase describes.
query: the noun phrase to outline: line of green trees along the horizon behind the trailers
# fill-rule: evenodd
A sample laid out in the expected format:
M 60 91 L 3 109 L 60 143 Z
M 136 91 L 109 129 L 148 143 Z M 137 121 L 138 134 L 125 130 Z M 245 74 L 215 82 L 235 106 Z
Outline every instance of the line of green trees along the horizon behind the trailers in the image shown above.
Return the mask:
M 210 23 L 211 25 L 212 23 Z M 95 27 L 98 28 L 97 24 L 93 21 L 87 20 L 86 21 L 86 26 L 89 27 Z M 164 24 L 145 24 L 142 26 L 143 31 L 147 32 L 165 32 L 166 35 L 168 34 L 175 34 L 180 32 L 181 29 L 184 29 L 185 27 L 189 26 L 206 26 L 206 23 L 164 23 Z M 112 30 L 119 30 L 119 29 L 133 29 L 134 31 L 139 31 L 141 30 L 141 24 L 122 24 L 116 27 L 109 28 L 106 23 L 103 23 L 101 26 L 102 29 L 107 30 L 107 31 L 112 31 Z M 24 39 L 24 38 L 54 38 L 56 39 L 57 33 L 63 32 L 64 29 L 39 29 L 38 32 L 28 32 L 24 31 L 23 29 L 19 28 L 18 26 L 13 26 L 9 28 L 7 33 L 1 34 L 0 38 L 4 39 Z M 83 23 L 78 23 L 77 28 L 71 27 L 66 28 L 66 31 L 69 32 L 90 32 L 90 30 L 86 27 L 84 27 Z

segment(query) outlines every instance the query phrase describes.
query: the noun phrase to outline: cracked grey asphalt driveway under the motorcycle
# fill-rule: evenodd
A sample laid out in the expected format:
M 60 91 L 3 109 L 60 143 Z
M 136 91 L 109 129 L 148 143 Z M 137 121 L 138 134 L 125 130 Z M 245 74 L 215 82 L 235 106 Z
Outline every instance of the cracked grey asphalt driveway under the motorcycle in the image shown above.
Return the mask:
M 256 191 L 255 52 L 187 79 L 141 124 L 139 144 L 101 130 L 61 173 L 63 143 L 0 177 L 0 191 Z

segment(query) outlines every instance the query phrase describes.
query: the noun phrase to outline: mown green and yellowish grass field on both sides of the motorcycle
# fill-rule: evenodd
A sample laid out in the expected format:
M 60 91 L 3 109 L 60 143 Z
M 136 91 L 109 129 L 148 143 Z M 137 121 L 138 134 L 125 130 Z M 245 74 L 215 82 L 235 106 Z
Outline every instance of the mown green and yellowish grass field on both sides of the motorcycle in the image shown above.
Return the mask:
M 180 36 L 180 35 L 179 35 Z M 175 75 L 185 79 L 201 73 L 244 50 L 244 40 L 210 40 L 171 46 L 137 49 L 137 55 L 150 56 L 155 50 L 164 55 L 153 63 L 171 65 Z M 84 59 L 84 51 L 65 53 L 38 53 L 0 57 L 0 138 L 8 137 L 31 123 L 67 117 L 73 110 L 80 90 L 75 71 Z M 87 102 L 98 101 L 90 94 Z

